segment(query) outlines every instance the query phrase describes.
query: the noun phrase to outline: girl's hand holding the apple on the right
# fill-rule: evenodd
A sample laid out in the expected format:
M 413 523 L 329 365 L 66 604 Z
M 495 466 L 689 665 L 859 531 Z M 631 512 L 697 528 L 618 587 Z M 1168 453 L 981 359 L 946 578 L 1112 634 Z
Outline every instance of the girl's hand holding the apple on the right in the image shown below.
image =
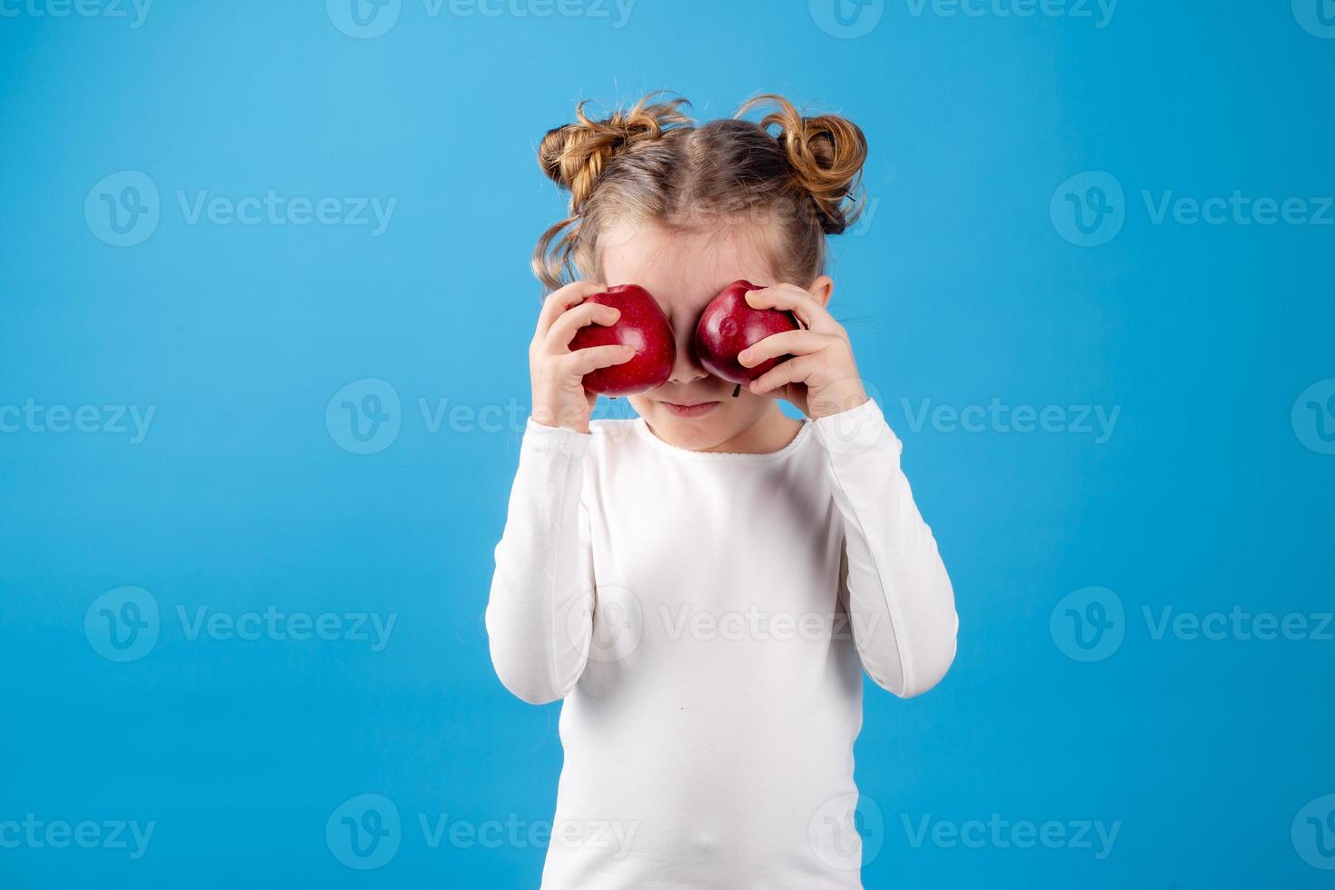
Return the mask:
M 744 367 L 793 356 L 753 380 L 748 387 L 752 392 L 792 402 L 813 420 L 866 402 L 848 332 L 820 300 L 796 284 L 774 284 L 750 291 L 746 303 L 757 310 L 788 310 L 805 326 L 772 334 L 737 355 Z

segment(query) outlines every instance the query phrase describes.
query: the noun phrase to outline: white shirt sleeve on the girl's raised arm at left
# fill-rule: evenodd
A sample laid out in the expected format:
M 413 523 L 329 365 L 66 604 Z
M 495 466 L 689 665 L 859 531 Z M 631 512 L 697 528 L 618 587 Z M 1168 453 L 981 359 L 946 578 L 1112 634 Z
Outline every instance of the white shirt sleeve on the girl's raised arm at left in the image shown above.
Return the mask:
M 591 442 L 529 419 L 495 547 L 485 616 L 491 664 L 534 705 L 565 698 L 589 656 L 594 582 L 582 492 Z

